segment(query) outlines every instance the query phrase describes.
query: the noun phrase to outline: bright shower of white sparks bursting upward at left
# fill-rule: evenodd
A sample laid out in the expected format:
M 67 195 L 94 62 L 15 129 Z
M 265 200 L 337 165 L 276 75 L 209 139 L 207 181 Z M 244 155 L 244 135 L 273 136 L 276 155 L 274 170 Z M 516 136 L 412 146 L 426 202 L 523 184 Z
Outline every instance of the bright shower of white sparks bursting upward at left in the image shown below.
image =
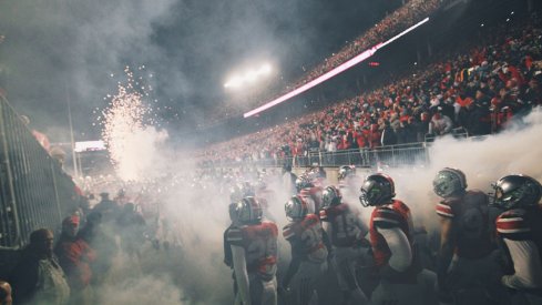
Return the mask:
M 143 85 L 142 78 L 134 79 L 130 68 L 124 72 L 127 82 L 119 82 L 116 94 L 105 98 L 110 104 L 98 120 L 117 175 L 134 181 L 143 177 L 156 152 L 155 144 L 167 135 L 156 131 L 156 115 L 147 105 L 152 88 Z

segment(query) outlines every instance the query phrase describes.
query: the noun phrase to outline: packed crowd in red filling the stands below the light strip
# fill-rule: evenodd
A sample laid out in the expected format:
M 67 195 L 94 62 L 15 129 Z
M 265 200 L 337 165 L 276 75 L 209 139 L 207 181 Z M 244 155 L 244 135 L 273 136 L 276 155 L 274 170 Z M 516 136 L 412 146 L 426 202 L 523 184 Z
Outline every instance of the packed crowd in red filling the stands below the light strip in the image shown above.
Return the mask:
M 542 103 L 541 23 L 536 16 L 484 33 L 474 45 L 374 91 L 200 152 L 206 164 L 277 160 L 310 150 L 374 149 L 450 133 L 499 132 Z M 458 45 L 460 43 L 458 42 Z M 468 50 L 468 51 L 466 51 Z

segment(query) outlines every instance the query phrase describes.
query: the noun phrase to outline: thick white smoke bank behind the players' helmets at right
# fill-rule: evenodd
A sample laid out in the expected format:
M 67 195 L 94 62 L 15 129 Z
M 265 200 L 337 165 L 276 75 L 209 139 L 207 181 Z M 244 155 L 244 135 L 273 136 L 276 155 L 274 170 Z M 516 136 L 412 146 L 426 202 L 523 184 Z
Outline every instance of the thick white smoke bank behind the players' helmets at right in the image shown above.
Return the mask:
M 488 138 L 457 140 L 438 139 L 430 148 L 430 163 L 407 169 L 384 169 L 396 182 L 397 197 L 412 210 L 415 221 L 436 228 L 434 204 L 439 197 L 432 191 L 432 180 L 442 167 L 464 172 L 469 189 L 492 193 L 491 183 L 513 173 L 542 179 L 536 145 L 542 132 L 542 111 L 534 109 L 523 119 L 514 120 L 503 132 Z

